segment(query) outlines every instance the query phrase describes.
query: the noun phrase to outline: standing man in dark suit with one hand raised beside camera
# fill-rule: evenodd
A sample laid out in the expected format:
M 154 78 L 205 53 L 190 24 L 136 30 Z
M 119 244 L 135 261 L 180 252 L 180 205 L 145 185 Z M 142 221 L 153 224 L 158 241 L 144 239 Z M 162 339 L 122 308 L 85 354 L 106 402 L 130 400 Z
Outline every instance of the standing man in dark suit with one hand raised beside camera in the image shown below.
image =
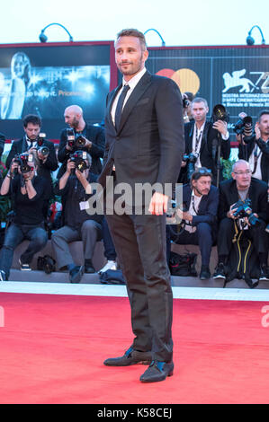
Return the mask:
M 230 142 L 227 122 L 222 119 L 207 121 L 208 103 L 203 98 L 194 98 L 191 104 L 193 121 L 184 125 L 185 154 L 178 181 L 188 183 L 191 172 L 199 167 L 212 171 L 212 183 L 218 180 L 218 134 L 220 134 L 220 156 L 229 159 Z M 189 163 L 193 170 L 189 171 Z M 220 171 L 220 180 L 222 171 Z

